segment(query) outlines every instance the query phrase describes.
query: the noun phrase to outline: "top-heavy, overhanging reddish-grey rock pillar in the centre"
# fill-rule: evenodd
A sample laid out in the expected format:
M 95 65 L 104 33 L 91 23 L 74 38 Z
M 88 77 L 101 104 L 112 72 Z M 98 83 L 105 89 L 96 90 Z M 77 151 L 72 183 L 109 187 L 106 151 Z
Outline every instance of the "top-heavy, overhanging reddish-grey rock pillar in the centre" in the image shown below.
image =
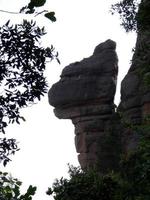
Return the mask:
M 100 142 L 115 112 L 118 74 L 115 49 L 112 40 L 101 43 L 92 56 L 65 67 L 60 81 L 49 90 L 49 103 L 55 107 L 55 115 L 71 119 L 75 126 L 75 146 L 82 168 L 96 165 L 105 151 Z M 103 162 L 107 168 L 109 161 Z

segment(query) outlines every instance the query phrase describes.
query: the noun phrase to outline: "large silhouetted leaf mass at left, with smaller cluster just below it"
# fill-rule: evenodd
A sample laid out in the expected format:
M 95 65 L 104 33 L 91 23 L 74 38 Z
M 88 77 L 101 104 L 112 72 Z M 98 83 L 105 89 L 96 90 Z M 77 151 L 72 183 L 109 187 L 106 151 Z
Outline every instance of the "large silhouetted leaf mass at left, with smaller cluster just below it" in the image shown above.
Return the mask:
M 40 39 L 45 35 L 44 28 L 26 20 L 22 24 L 10 25 L 9 21 L 0 27 L 0 132 L 10 123 L 25 120 L 20 109 L 40 100 L 47 92 L 44 77 L 46 62 L 56 58 L 54 47 L 41 47 Z M 59 62 L 59 60 L 58 60 Z M 15 140 L 2 145 L 0 160 L 9 161 L 8 155 L 15 152 Z

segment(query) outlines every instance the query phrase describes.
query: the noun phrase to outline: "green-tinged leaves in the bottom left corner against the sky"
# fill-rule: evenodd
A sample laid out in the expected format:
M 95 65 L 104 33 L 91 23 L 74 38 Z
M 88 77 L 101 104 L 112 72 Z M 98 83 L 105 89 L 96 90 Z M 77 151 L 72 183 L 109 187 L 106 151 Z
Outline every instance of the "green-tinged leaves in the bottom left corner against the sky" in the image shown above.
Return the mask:
M 29 186 L 25 194 L 20 193 L 22 183 L 8 173 L 0 172 L 0 199 L 1 200 L 32 200 L 36 187 Z

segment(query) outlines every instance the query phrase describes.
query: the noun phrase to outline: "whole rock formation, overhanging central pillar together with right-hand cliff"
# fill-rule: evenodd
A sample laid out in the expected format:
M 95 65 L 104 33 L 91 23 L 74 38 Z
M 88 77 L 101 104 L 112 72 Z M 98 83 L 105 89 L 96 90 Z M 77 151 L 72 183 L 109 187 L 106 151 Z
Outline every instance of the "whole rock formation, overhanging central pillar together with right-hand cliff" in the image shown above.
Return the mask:
M 137 147 L 139 133 L 134 127 L 150 124 L 149 10 L 150 2 L 143 0 L 132 65 L 121 83 L 118 108 L 113 102 L 118 59 L 112 40 L 98 45 L 91 57 L 65 67 L 49 91 L 55 115 L 71 119 L 75 126 L 75 146 L 83 169 L 98 166 L 102 173 L 117 169 L 120 154 Z

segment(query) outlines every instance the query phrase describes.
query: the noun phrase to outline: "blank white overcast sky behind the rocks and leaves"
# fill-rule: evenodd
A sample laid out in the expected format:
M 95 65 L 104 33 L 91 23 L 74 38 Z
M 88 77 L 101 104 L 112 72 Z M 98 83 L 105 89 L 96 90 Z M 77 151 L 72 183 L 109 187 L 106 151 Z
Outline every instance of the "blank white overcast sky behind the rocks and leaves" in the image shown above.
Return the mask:
M 24 3 L 23 3 L 24 2 Z M 0 0 L 0 9 L 18 11 L 28 1 Z M 110 5 L 117 0 L 47 0 L 45 9 L 56 12 L 57 21 L 36 18 L 38 25 L 45 26 L 47 35 L 44 45 L 53 44 L 59 52 L 61 65 L 56 61 L 48 64 L 49 85 L 59 80 L 63 67 L 93 53 L 96 45 L 112 39 L 117 42 L 119 78 L 116 103 L 119 102 L 120 81 L 125 76 L 131 60 L 135 34 L 126 34 L 120 27 L 117 16 L 109 13 Z M 20 22 L 26 15 L 9 15 L 0 12 L 0 25 L 11 18 Z M 45 191 L 55 178 L 67 176 L 67 163 L 78 166 L 74 146 L 74 127 L 69 120 L 59 120 L 48 104 L 47 95 L 38 104 L 23 111 L 26 122 L 7 128 L 7 137 L 20 142 L 21 150 L 12 157 L 12 162 L 1 170 L 9 171 L 24 183 L 38 187 L 33 200 L 50 199 Z

